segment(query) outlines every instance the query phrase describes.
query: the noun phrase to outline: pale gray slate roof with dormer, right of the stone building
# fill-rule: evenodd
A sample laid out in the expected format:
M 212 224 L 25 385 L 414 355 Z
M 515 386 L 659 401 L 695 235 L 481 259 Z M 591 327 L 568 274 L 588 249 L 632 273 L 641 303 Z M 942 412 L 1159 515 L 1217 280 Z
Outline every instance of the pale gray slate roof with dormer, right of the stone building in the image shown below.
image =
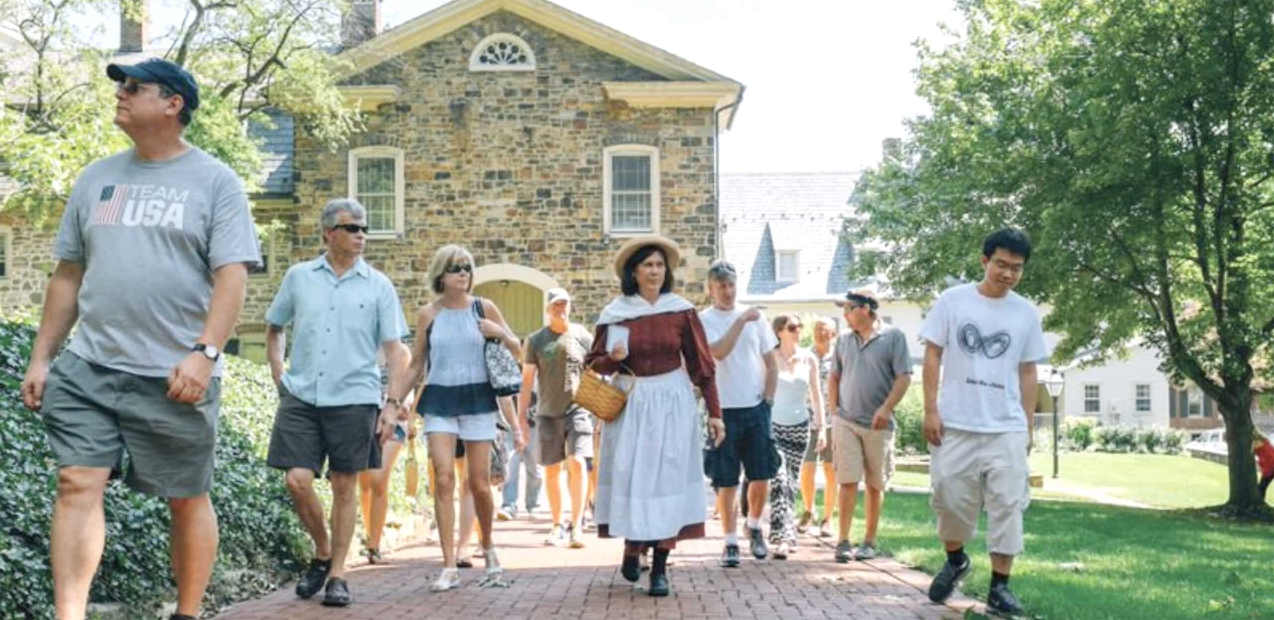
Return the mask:
M 841 239 L 841 220 L 857 172 L 748 173 L 721 176 L 721 243 L 739 270 L 747 300 L 836 299 L 851 283 L 854 250 Z M 799 279 L 776 281 L 776 250 L 799 250 Z

